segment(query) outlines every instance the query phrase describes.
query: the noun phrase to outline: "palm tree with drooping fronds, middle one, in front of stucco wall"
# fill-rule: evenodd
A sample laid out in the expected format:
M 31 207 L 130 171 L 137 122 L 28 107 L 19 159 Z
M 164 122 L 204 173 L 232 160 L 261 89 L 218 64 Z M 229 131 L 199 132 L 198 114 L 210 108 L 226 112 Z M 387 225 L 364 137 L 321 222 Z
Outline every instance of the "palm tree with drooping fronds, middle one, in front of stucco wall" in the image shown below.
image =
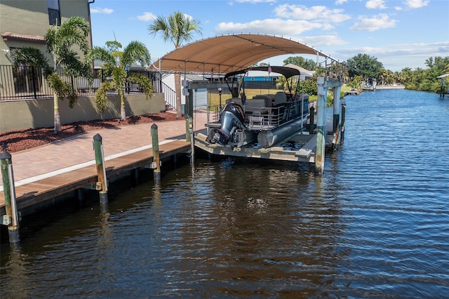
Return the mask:
M 128 74 L 127 67 L 139 62 L 140 65 L 149 65 L 149 51 L 147 47 L 140 41 L 131 41 L 128 46 L 120 51 L 121 44 L 118 41 L 107 41 L 106 47 L 93 47 L 91 51 L 86 54 L 86 62 L 93 62 L 93 60 L 101 60 L 102 68 L 112 77 L 112 81 L 102 82 L 100 88 L 95 92 L 95 105 L 100 112 L 104 112 L 107 107 L 107 92 L 117 91 L 120 96 L 120 117 L 121 120 L 126 119 L 125 109 L 125 93 L 124 88 L 126 83 L 139 84 L 145 92 L 146 99 L 153 95 L 153 85 L 143 74 L 132 73 Z

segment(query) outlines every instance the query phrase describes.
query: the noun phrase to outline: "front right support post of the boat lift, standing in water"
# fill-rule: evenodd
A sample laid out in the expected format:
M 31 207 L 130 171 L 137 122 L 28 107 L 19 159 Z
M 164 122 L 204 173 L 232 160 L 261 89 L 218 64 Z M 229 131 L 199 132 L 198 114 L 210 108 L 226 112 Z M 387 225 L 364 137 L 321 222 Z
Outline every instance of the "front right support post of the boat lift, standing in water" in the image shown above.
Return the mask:
M 323 174 L 324 154 L 326 147 L 326 98 L 328 95 L 324 77 L 316 79 L 318 85 L 318 100 L 316 102 L 316 154 L 315 170 Z

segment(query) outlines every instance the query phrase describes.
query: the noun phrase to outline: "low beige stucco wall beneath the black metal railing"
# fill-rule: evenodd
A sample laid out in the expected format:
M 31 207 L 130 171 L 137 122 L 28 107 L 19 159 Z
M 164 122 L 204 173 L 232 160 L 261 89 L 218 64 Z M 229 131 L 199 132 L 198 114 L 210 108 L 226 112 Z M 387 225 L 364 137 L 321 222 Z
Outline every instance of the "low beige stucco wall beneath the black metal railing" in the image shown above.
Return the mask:
M 61 124 L 93 119 L 118 119 L 120 117 L 120 99 L 109 97 L 107 109 L 100 114 L 95 109 L 93 97 L 78 98 L 71 109 L 68 100 L 60 100 Z M 145 100 L 144 94 L 126 95 L 126 116 L 159 113 L 165 109 L 163 93 L 154 93 Z M 0 133 L 27 128 L 53 127 L 53 98 L 42 100 L 1 100 Z

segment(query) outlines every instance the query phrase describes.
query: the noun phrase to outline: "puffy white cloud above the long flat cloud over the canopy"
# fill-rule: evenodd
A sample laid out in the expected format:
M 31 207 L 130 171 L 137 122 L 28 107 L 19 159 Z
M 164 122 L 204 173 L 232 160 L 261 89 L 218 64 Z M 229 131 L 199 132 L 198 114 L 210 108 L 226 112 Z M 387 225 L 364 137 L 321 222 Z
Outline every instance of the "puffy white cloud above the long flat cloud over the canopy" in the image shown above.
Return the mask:
M 274 9 L 276 16 L 293 18 L 295 20 L 321 20 L 324 22 L 344 22 L 351 16 L 344 14 L 342 9 L 329 9 L 326 6 L 303 6 L 283 4 Z

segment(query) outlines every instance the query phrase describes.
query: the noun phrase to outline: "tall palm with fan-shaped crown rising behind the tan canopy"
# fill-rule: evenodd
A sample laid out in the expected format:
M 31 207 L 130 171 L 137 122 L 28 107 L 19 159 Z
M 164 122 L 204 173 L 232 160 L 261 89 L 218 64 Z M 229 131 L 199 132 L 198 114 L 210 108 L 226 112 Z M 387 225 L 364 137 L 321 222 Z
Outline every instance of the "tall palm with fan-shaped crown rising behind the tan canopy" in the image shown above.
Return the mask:
M 193 32 L 201 34 L 199 21 L 189 15 L 176 11 L 173 15 L 166 17 L 158 16 L 153 23 L 148 26 L 149 34 L 156 35 L 158 32 L 164 41 L 172 41 L 175 48 L 179 48 L 183 41 L 192 41 Z M 175 72 L 175 93 L 176 93 L 176 117 L 181 117 L 181 74 Z

